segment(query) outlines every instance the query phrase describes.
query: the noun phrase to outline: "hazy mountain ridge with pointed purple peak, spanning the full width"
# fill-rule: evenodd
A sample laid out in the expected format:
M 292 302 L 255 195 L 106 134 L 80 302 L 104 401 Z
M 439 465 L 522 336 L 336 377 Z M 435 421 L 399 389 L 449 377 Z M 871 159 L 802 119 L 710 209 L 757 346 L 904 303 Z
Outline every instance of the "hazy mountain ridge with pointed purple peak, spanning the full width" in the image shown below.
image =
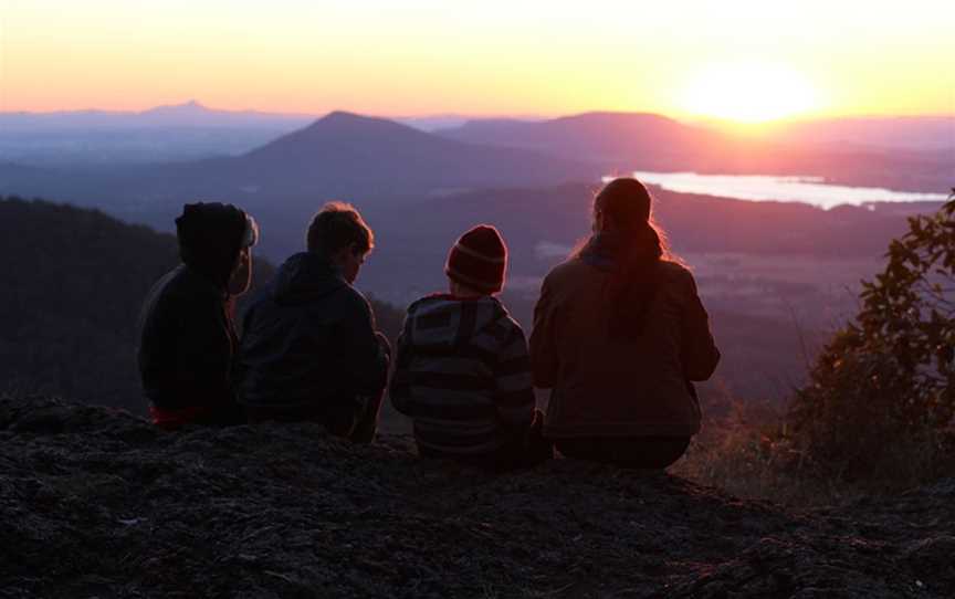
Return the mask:
M 210 112 L 190 104 L 140 116 L 188 122 Z M 143 135 L 148 141 L 168 130 Z M 786 145 L 637 113 L 472 122 L 432 134 L 335 112 L 234 156 L 55 168 L 0 159 L 0 193 L 96 206 L 167 227 L 191 198 L 230 200 L 297 219 L 305 207 L 314 210 L 328 198 L 405 202 L 486 188 L 597 185 L 602 175 L 632 170 L 807 175 L 850 186 L 938 192 L 953 183 L 955 153 Z

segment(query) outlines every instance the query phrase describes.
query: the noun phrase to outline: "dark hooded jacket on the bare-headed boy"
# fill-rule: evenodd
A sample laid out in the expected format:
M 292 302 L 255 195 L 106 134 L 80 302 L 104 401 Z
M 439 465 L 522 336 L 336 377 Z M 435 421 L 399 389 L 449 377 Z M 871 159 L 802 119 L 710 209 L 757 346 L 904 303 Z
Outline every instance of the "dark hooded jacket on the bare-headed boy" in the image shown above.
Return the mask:
M 250 408 L 360 410 L 387 382 L 387 346 L 368 301 L 314 253 L 291 256 L 252 302 L 237 366 Z

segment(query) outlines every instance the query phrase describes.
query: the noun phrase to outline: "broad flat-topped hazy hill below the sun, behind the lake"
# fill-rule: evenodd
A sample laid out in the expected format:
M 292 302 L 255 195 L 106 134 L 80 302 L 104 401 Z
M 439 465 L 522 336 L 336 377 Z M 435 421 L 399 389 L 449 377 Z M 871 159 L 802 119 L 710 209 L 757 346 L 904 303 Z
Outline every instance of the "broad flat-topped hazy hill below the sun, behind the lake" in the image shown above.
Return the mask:
M 940 138 L 946 139 L 941 126 L 935 127 L 933 146 L 912 148 L 911 144 L 885 144 L 886 137 L 891 139 L 891 123 L 870 124 L 868 129 L 859 123 L 854 128 L 851 125 L 833 126 L 831 130 L 826 125 L 807 126 L 802 134 L 794 126 L 764 136 L 739 136 L 652 114 L 585 113 L 543 122 L 476 120 L 439 133 L 461 141 L 583 156 L 600 165 L 605 172 L 816 176 L 840 185 L 936 192 L 951 186 L 955 158 L 951 137 L 938 144 Z M 902 130 L 896 136 L 915 127 L 910 122 L 896 126 Z M 829 137 L 819 129 L 828 132 Z M 858 140 L 833 141 L 832 136 L 840 132 L 843 136 L 853 132 Z M 868 145 L 863 143 L 867 139 L 871 140 Z

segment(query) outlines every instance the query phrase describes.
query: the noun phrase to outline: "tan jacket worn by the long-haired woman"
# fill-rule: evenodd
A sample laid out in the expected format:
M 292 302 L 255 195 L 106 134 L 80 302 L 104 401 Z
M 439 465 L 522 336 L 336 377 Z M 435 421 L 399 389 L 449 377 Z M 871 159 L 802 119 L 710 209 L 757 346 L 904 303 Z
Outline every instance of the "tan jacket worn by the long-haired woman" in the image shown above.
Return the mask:
M 544 280 L 534 311 L 534 385 L 550 388 L 548 437 L 689 437 L 700 431 L 691 380 L 720 361 L 690 271 L 660 262 L 660 288 L 636 338 L 610 338 L 610 273 L 580 259 Z

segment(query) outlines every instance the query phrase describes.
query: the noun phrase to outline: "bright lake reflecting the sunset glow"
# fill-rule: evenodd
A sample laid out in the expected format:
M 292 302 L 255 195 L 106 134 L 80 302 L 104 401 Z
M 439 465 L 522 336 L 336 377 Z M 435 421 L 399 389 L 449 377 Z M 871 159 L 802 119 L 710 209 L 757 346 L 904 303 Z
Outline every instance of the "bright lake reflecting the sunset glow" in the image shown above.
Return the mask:
M 879 187 L 826 185 L 821 177 L 777 177 L 772 175 L 697 175 L 696 172 L 636 171 L 647 183 L 680 193 L 703 193 L 738 200 L 805 202 L 830 209 L 840 204 L 874 202 L 944 202 L 944 193 L 892 191 Z

